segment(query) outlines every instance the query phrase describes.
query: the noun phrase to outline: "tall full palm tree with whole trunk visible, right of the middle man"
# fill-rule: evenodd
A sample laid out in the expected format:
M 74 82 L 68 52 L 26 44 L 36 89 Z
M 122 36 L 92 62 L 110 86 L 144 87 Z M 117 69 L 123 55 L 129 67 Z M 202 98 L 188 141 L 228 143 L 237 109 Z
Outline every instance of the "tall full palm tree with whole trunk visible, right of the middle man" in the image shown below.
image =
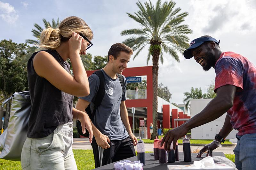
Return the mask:
M 183 53 L 188 48 L 189 38 L 187 34 L 192 33 L 188 25 L 182 25 L 188 12 L 181 12 L 181 8 L 174 9 L 175 2 L 157 0 L 156 5 L 151 1 L 145 2 L 144 6 L 138 1 L 139 11 L 134 15 L 127 13 L 129 17 L 140 23 L 140 28 L 128 29 L 121 32 L 121 35 L 132 35 L 123 43 L 137 51 L 133 59 L 139 55 L 140 51 L 147 45 L 147 64 L 152 56 L 153 67 L 153 133 L 151 139 L 157 134 L 157 87 L 158 87 L 158 61 L 160 58 L 163 64 L 163 52 L 171 55 L 177 62 L 180 62 L 177 52 Z

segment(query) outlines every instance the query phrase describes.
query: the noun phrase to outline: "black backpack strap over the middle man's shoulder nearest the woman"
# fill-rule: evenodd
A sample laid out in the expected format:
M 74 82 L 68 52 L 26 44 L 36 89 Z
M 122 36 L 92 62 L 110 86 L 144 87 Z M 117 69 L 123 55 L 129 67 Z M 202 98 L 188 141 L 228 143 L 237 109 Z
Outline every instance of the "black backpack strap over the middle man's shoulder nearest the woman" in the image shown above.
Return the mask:
M 105 95 L 105 77 L 104 77 L 104 73 L 101 70 L 97 70 L 92 74 L 96 74 L 100 79 L 99 89 L 98 89 L 98 92 L 97 92 L 97 94 L 95 96 L 95 100 L 94 100 L 94 107 L 93 107 L 93 112 L 92 112 L 92 118 L 93 118 L 97 107 L 100 106 L 100 104 L 103 100 L 103 97 Z

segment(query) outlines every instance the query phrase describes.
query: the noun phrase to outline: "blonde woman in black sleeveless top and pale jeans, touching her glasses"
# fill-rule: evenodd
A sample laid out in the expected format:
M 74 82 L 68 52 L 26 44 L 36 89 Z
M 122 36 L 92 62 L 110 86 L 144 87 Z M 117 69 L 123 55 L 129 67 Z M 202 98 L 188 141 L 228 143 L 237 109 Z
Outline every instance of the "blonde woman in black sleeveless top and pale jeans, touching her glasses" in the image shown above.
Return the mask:
M 75 118 L 90 133 L 87 114 L 73 107 L 73 95 L 89 94 L 87 74 L 80 55 L 92 46 L 93 33 L 78 17 L 65 18 L 56 29 L 48 27 L 40 47 L 28 60 L 31 112 L 27 139 L 21 153 L 22 169 L 77 169 L 72 151 Z M 73 74 L 70 74 L 70 59 Z

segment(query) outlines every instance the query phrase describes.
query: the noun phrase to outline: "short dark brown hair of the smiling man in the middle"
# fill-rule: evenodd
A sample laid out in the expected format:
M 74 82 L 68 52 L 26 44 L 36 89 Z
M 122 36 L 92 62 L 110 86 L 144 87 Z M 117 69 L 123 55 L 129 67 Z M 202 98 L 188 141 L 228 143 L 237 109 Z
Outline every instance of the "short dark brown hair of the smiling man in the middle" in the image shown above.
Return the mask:
M 116 60 L 116 58 L 118 57 L 118 55 L 120 54 L 121 51 L 124 51 L 130 55 L 133 54 L 132 48 L 130 48 L 122 43 L 116 43 L 116 44 L 113 44 L 108 51 L 108 62 L 109 62 L 109 55 L 113 55 Z

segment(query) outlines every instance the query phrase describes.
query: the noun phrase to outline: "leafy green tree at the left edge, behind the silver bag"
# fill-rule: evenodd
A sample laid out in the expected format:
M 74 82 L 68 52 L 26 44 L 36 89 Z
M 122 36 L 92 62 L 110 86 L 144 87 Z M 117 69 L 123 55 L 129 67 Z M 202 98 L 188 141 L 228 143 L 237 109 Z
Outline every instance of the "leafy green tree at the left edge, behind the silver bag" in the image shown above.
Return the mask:
M 26 65 L 20 62 L 27 49 L 25 43 L 0 41 L 0 90 L 5 99 L 14 92 L 28 90 Z

